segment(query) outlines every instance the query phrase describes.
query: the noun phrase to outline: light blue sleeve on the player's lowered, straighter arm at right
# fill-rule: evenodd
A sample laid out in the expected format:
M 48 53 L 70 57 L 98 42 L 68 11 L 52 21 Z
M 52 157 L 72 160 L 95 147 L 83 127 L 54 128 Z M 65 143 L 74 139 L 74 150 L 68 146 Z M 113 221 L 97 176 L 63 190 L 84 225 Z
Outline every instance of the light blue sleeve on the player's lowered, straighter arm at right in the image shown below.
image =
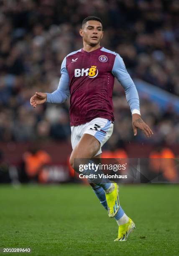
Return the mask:
M 124 88 L 125 97 L 128 101 L 131 113 L 134 109 L 140 111 L 139 97 L 136 86 L 127 72 L 124 61 L 119 54 L 117 54 L 115 57 L 112 74 L 118 79 Z

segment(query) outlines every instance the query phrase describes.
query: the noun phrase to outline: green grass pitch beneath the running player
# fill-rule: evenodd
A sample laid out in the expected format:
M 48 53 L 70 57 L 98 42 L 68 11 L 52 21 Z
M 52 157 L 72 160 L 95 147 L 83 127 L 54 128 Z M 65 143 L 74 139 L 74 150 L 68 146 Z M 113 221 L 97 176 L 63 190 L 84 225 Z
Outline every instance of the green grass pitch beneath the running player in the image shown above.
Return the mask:
M 179 255 L 179 185 L 121 185 L 120 204 L 136 223 L 126 242 L 88 186 L 0 186 L 1 255 Z M 1 249 L 2 250 L 2 249 Z

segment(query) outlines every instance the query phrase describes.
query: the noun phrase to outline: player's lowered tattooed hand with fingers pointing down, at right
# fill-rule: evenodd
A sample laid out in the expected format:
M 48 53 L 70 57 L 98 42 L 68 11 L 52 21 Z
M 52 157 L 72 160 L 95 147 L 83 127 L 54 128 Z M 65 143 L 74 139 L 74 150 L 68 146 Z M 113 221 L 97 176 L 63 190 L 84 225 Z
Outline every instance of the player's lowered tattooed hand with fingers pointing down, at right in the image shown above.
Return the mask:
M 151 128 L 142 120 L 141 116 L 138 114 L 132 115 L 132 124 L 133 124 L 133 131 L 134 136 L 137 135 L 137 128 L 143 131 L 146 137 L 151 137 L 153 135 L 153 131 Z

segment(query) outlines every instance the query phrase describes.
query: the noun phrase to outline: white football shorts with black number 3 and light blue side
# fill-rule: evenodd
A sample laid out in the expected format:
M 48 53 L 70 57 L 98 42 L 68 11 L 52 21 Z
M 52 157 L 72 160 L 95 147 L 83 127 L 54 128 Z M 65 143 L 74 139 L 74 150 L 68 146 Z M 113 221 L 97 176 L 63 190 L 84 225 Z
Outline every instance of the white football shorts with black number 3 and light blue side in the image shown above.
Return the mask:
M 105 118 L 95 118 L 88 123 L 82 125 L 71 126 L 72 148 L 74 149 L 84 133 L 91 134 L 101 144 L 97 155 L 102 153 L 101 147 L 106 143 L 113 133 L 113 122 Z

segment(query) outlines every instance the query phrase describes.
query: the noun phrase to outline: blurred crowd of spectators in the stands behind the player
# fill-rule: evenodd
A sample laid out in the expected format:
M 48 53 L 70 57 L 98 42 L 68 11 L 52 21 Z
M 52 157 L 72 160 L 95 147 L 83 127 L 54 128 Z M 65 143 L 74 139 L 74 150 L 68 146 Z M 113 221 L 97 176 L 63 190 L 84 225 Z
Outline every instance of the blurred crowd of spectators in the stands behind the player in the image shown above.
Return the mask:
M 0 141 L 69 140 L 69 101 L 33 109 L 36 92 L 58 87 L 69 52 L 82 48 L 83 18 L 104 22 L 102 46 L 118 52 L 132 78 L 179 96 L 179 1 L 177 0 L 0 0 Z M 118 141 L 179 142 L 179 114 L 141 98 L 142 118 L 154 136 L 134 138 L 123 88 L 114 87 Z

